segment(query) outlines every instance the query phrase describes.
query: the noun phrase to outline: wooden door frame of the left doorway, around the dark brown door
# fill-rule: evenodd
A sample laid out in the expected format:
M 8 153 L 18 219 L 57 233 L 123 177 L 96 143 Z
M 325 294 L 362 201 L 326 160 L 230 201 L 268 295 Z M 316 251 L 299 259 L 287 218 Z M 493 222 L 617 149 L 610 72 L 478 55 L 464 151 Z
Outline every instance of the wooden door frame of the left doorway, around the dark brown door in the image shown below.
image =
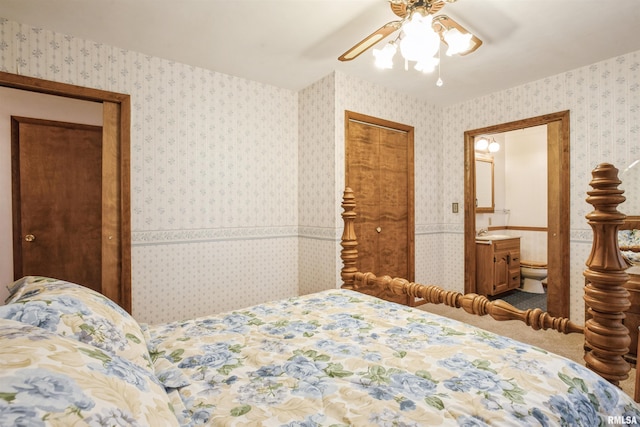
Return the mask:
M 102 293 L 131 313 L 131 97 L 0 72 L 0 86 L 103 104 Z

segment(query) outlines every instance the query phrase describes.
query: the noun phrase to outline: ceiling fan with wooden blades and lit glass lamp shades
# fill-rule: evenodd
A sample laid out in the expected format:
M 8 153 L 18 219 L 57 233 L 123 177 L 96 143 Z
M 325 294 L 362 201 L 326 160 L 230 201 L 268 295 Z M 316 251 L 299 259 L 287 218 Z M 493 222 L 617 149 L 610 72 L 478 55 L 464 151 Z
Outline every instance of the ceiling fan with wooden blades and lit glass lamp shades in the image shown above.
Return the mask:
M 340 61 L 351 61 L 390 34 L 401 30 L 398 37 L 383 49 L 374 49 L 377 65 L 391 68 L 390 61 L 400 46 L 406 61 L 416 61 L 420 71 L 430 71 L 437 65 L 434 55 L 440 43 L 449 48 L 447 55 L 467 55 L 482 45 L 482 41 L 447 15 L 435 15 L 447 3 L 456 0 L 389 0 L 391 10 L 400 20 L 391 21 L 365 37 L 343 53 Z M 378 61 L 382 59 L 381 64 Z M 385 62 L 386 61 L 386 62 Z M 435 63 L 435 65 L 434 65 Z

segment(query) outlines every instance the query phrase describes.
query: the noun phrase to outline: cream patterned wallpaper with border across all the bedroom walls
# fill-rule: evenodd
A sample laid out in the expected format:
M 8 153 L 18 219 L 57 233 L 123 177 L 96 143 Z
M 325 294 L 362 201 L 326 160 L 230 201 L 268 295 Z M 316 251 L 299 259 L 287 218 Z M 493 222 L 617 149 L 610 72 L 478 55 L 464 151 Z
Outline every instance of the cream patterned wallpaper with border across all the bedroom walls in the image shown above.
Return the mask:
M 293 93 L 0 18 L 0 70 L 131 95 L 133 310 L 145 322 L 337 286 L 344 110 L 415 127 L 416 280 L 459 291 L 464 131 L 570 110 L 568 285 L 582 322 L 584 199 L 598 163 L 640 157 L 638 55 L 436 108 L 342 73 Z

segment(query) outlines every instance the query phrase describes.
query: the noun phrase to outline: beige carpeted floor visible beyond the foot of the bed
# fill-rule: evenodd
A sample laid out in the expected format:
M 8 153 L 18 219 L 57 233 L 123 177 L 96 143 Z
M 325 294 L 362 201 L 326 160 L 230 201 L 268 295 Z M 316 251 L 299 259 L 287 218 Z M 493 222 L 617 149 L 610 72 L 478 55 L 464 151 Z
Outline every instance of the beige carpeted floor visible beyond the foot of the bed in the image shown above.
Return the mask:
M 584 335 L 582 334 L 565 335 L 552 330 L 535 331 L 517 320 L 498 322 L 489 316 L 474 316 L 462 309 L 451 308 L 444 304 L 424 304 L 419 308 L 535 345 L 582 365 L 585 364 L 583 359 Z M 629 378 L 620 383 L 620 388 L 631 397 L 633 397 L 635 375 L 636 370 L 632 368 L 631 372 L 629 372 Z

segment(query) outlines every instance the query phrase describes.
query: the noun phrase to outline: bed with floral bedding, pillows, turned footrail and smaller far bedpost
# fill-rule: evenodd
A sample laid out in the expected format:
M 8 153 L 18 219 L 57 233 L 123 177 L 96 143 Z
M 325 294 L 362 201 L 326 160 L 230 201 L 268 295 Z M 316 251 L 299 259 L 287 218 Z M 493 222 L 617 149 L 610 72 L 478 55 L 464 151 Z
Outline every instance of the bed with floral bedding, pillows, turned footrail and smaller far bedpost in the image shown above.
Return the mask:
M 350 218 L 353 199 L 345 195 Z M 347 220 L 343 288 L 159 325 L 136 322 L 78 284 L 36 276 L 14 282 L 0 307 L 0 425 L 640 422 L 640 406 L 615 379 L 362 291 L 382 287 L 534 328 L 586 330 L 586 337 L 589 325 L 354 271 L 351 231 Z M 592 352 L 615 359 L 618 341 L 607 343 L 595 340 Z

